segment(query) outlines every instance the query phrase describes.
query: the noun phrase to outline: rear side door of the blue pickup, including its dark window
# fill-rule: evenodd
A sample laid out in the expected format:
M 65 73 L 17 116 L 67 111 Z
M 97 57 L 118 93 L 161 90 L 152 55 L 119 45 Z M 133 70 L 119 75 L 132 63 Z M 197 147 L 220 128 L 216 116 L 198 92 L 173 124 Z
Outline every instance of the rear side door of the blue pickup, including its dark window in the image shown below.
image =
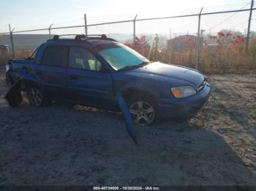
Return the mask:
M 34 67 L 34 74 L 48 98 L 66 98 L 68 57 L 69 47 L 48 46 L 41 63 Z

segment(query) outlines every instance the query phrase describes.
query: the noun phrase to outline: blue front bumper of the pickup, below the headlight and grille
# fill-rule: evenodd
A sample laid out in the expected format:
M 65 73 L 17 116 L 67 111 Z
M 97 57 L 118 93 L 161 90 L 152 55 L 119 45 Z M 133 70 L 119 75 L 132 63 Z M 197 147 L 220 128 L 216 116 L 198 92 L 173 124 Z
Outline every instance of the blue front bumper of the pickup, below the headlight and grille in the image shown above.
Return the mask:
M 159 98 L 157 101 L 159 114 L 165 118 L 194 117 L 203 108 L 211 94 L 210 85 L 206 85 L 201 93 L 187 98 Z

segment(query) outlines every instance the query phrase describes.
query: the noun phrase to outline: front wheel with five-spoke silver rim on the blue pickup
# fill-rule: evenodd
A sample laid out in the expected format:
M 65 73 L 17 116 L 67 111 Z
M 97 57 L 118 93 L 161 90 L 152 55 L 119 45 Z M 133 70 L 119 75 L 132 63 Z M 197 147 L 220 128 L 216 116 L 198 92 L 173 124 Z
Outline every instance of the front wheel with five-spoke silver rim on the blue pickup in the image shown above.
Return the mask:
M 135 125 L 153 125 L 158 120 L 157 105 L 148 95 L 134 94 L 127 98 Z

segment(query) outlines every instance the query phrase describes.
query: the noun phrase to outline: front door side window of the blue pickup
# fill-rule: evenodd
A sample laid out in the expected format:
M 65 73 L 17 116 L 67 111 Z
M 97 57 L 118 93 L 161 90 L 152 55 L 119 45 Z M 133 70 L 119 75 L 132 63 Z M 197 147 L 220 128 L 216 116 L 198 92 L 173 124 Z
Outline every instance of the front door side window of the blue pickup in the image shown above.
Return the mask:
M 81 47 L 70 47 L 69 68 L 100 71 L 102 64 L 89 50 Z

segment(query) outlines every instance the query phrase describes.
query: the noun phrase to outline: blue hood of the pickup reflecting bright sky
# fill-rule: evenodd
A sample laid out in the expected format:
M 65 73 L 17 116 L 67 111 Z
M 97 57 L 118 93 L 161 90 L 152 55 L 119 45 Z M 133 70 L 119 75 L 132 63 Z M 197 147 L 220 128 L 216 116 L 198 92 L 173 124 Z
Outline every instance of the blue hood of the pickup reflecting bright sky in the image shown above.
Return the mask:
M 148 75 L 151 79 L 157 79 L 157 77 L 162 77 L 161 79 L 165 80 L 170 79 L 170 81 L 171 79 L 176 79 L 195 86 L 200 85 L 204 80 L 203 74 L 194 69 L 159 62 L 149 63 L 146 66 L 132 69 L 128 73 L 138 77 L 141 77 L 141 74 L 143 76 Z

